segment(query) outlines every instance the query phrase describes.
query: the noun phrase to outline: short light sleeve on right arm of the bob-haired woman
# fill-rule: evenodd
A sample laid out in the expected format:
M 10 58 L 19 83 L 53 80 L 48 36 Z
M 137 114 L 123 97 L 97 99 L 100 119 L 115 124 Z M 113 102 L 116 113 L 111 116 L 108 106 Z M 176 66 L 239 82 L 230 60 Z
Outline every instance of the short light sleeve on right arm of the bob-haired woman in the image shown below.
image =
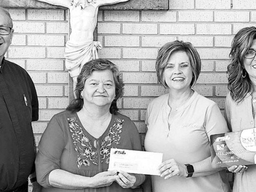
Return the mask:
M 212 134 L 222 134 L 229 132 L 227 122 L 221 114 L 216 103 L 209 106 L 205 116 L 205 131 L 210 140 Z

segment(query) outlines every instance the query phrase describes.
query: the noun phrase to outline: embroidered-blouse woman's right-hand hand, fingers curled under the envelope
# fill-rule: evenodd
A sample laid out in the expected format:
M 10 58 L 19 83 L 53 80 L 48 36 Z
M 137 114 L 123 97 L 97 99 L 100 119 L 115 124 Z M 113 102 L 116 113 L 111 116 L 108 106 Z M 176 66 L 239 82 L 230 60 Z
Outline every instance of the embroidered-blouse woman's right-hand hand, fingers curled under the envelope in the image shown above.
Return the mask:
M 124 171 L 119 171 L 118 176 L 119 177 L 116 179 L 116 182 L 122 188 L 131 188 L 136 183 L 136 177 L 132 174 L 128 174 Z

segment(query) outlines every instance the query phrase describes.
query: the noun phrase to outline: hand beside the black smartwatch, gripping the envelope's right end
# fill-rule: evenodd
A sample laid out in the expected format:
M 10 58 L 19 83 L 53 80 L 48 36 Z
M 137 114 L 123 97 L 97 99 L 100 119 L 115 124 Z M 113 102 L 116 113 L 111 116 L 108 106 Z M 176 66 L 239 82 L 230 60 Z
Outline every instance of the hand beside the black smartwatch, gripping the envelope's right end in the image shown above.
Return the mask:
M 173 176 L 186 177 L 188 174 L 186 173 L 185 165 L 178 163 L 174 159 L 168 159 L 163 162 L 158 167 L 159 173 L 161 177 L 165 177 L 165 179 L 169 179 Z

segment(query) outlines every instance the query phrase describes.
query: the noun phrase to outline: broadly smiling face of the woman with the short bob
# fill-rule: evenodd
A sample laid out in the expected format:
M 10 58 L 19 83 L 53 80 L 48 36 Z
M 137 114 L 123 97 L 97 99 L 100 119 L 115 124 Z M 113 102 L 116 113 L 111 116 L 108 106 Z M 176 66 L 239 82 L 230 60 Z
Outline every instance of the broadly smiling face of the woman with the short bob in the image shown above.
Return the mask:
M 186 52 L 174 52 L 165 67 L 165 83 L 170 91 L 187 91 L 192 81 L 192 68 Z

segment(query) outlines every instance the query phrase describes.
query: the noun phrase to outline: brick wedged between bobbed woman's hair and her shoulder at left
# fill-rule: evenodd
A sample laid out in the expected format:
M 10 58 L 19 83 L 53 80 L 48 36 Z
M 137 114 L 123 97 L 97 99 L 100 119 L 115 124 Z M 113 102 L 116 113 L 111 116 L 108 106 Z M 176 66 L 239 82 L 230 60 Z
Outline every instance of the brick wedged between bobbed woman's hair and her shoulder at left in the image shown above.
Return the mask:
M 141 85 L 141 96 L 160 96 L 166 92 L 162 85 Z

